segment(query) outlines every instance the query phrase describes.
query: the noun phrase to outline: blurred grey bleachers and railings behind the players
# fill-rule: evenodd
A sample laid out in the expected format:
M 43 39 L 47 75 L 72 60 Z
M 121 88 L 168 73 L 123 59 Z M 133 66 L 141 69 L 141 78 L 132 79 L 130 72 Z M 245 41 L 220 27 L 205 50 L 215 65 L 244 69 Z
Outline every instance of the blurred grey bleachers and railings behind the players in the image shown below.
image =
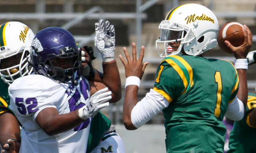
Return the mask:
M 139 99 L 145 96 L 155 82 L 155 73 L 161 58 L 155 48 L 158 39 L 159 23 L 174 6 L 185 3 L 198 3 L 211 9 L 222 26 L 227 21 L 246 24 L 256 34 L 256 0 L 1 0 L 0 23 L 19 21 L 28 25 L 34 33 L 49 26 L 69 30 L 81 46 L 94 48 L 94 23 L 99 19 L 109 20 L 116 31 L 116 60 L 122 79 L 122 99 L 103 110 L 116 125 L 122 137 L 126 153 L 162 153 L 165 150 L 165 131 L 163 115 L 151 119 L 147 125 L 136 131 L 127 131 L 122 124 L 122 105 L 124 98 L 125 73 L 118 59 L 126 46 L 131 51 L 131 43 L 146 47 L 144 61 L 150 62 L 142 78 Z M 256 50 L 256 35 L 251 50 Z M 94 66 L 102 71 L 101 58 Z M 232 54 L 225 53 L 217 46 L 205 53 L 207 58 L 226 59 L 234 62 Z M 248 87 L 255 93 L 256 66 L 249 66 Z M 205 72 L 207 73 L 207 72 Z

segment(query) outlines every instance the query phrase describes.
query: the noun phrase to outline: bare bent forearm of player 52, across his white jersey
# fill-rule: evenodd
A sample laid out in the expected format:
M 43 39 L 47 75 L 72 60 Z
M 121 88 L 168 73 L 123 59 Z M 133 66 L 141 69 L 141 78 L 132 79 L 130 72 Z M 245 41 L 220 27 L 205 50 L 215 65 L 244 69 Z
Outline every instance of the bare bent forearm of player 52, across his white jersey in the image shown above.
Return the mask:
M 56 135 L 68 131 L 74 127 L 77 127 L 82 122 L 85 122 L 85 120 L 79 117 L 78 110 L 67 114 L 48 115 L 47 118 L 44 116 L 46 115 L 38 115 L 36 121 L 47 135 Z

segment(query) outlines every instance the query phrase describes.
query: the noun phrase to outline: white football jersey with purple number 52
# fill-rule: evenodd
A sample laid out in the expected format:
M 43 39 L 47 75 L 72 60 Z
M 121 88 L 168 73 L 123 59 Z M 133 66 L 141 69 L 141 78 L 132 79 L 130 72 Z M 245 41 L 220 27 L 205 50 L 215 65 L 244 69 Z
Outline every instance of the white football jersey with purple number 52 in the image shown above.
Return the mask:
M 90 119 L 69 131 L 49 136 L 35 119 L 48 107 L 59 114 L 67 114 L 85 106 L 90 97 L 90 86 L 84 77 L 78 85 L 56 83 L 43 75 L 32 74 L 16 79 L 9 86 L 10 109 L 22 124 L 19 153 L 85 153 Z M 45 116 L 47 118 L 47 115 Z

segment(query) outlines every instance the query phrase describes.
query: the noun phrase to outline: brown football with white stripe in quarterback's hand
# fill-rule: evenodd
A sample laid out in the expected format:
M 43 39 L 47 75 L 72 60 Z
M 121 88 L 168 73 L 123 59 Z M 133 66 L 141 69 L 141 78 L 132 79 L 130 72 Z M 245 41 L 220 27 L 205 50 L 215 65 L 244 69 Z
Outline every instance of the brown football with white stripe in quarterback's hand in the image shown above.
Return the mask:
M 243 25 L 238 22 L 227 22 L 219 30 L 217 41 L 220 48 L 232 54 L 232 51 L 226 46 L 225 40 L 229 41 L 233 46 L 241 46 L 244 42 Z

